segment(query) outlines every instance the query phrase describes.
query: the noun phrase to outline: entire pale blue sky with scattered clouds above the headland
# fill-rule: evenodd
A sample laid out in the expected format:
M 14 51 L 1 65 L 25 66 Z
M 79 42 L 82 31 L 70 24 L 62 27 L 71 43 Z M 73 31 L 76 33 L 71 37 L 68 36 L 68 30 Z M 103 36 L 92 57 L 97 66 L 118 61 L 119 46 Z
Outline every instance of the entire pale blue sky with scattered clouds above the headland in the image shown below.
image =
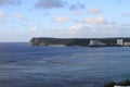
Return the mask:
M 130 0 L 0 0 L 0 42 L 130 37 Z

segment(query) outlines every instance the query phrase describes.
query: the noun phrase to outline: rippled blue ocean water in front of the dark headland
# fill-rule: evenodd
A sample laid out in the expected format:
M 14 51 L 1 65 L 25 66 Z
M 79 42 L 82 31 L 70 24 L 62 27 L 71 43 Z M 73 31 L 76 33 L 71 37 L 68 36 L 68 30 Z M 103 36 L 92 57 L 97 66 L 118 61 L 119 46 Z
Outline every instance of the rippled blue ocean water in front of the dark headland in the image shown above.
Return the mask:
M 0 87 L 103 87 L 130 78 L 129 47 L 0 44 Z

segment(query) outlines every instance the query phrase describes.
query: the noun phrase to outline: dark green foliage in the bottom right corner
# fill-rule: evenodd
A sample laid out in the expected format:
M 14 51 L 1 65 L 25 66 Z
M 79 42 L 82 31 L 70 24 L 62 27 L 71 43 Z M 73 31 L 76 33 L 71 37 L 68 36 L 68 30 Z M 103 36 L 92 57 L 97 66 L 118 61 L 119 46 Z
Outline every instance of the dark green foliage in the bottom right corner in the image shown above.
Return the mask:
M 114 86 L 130 86 L 130 79 L 126 79 L 121 83 L 110 82 L 104 85 L 104 87 L 114 87 Z

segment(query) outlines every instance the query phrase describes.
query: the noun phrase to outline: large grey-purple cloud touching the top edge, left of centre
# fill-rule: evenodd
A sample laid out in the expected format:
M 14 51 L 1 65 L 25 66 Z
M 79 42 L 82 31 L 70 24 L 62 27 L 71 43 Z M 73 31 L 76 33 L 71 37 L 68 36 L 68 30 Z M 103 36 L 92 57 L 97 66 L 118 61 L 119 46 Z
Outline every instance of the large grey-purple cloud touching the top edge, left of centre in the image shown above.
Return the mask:
M 62 0 L 39 0 L 36 3 L 36 8 L 39 9 L 54 9 L 54 8 L 64 8 L 64 2 Z

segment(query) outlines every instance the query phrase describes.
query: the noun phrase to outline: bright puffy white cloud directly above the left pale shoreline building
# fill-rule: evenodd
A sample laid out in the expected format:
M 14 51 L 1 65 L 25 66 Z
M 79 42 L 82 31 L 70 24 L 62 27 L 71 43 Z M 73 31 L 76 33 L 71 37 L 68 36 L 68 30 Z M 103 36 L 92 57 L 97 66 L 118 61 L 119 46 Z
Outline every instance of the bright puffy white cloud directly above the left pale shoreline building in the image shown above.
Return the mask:
M 107 23 L 104 16 L 87 17 L 82 22 L 87 24 L 106 24 Z

